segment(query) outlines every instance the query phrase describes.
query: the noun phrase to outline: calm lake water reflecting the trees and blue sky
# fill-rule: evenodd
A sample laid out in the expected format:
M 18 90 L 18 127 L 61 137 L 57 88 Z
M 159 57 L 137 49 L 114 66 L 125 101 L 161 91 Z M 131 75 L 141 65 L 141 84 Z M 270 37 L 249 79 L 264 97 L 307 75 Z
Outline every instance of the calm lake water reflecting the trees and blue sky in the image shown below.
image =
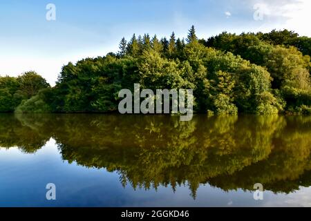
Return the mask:
M 311 206 L 311 117 L 179 119 L 0 115 L 0 206 Z

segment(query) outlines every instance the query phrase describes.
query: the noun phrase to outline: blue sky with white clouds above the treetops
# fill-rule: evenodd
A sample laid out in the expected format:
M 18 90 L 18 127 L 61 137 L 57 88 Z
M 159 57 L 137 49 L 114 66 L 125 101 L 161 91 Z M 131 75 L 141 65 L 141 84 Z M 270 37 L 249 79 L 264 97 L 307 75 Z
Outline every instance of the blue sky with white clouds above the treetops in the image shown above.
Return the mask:
M 54 84 L 68 61 L 116 52 L 122 37 L 186 37 L 191 25 L 200 38 L 273 28 L 311 37 L 310 9 L 308 0 L 0 0 L 0 75 L 35 70 Z

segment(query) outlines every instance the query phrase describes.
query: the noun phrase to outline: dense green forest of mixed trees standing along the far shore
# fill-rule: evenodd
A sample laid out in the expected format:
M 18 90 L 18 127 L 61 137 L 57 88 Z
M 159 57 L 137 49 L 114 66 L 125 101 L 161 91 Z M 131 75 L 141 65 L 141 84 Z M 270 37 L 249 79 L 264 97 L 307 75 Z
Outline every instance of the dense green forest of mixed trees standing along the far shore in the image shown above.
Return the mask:
M 34 71 L 2 75 L 0 112 L 112 113 L 140 84 L 193 89 L 196 113 L 311 114 L 311 38 L 290 30 L 198 39 L 192 26 L 185 39 L 134 34 L 119 48 L 68 63 L 53 87 Z

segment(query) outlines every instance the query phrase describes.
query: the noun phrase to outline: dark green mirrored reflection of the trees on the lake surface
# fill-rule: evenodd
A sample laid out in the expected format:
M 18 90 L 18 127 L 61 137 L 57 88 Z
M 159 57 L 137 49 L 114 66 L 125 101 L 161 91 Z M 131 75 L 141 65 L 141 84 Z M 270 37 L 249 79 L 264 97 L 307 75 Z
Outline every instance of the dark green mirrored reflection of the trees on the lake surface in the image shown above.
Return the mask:
M 200 184 L 290 193 L 311 185 L 311 117 L 0 115 L 0 146 L 35 153 L 51 137 L 68 162 L 117 171 L 134 189 Z

